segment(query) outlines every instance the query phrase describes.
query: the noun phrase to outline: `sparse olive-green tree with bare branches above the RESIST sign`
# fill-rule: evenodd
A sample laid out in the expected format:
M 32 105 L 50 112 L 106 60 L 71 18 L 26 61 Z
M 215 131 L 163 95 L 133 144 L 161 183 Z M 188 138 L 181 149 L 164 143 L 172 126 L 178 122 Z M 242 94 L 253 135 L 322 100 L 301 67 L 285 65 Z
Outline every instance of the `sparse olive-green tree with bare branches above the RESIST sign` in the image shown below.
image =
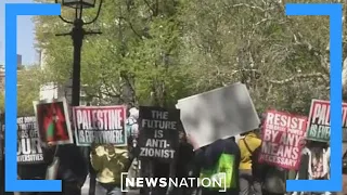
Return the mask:
M 241 81 L 258 110 L 305 115 L 312 98 L 329 99 L 327 17 L 287 17 L 274 0 L 192 0 L 183 18 L 185 61 L 202 91 Z

